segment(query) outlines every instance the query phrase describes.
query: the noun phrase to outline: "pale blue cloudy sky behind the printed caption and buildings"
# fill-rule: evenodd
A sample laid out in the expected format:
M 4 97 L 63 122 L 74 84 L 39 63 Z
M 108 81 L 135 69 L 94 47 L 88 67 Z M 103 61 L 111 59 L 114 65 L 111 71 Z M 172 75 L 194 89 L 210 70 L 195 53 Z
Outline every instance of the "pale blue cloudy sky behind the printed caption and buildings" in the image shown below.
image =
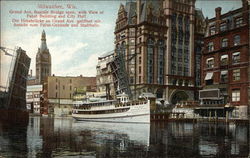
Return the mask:
M 114 50 L 114 28 L 118 9 L 126 1 L 0 1 L 1 4 L 1 43 L 2 47 L 21 47 L 31 58 L 30 69 L 35 75 L 35 57 L 41 43 L 43 29 L 47 36 L 47 46 L 52 58 L 52 74 L 58 76 L 95 76 L 98 56 Z M 24 18 L 24 14 L 11 14 L 17 10 L 39 10 L 38 4 L 74 5 L 75 11 L 103 11 L 99 15 L 87 15 L 88 19 L 100 19 L 100 27 L 94 28 L 55 28 L 17 27 L 13 18 Z M 241 7 L 241 0 L 196 0 L 196 8 L 203 11 L 204 17 L 212 18 L 214 9 L 222 7 L 222 13 Z M 27 19 L 27 18 L 26 18 Z M 7 79 L 11 57 L 1 51 L 1 82 Z

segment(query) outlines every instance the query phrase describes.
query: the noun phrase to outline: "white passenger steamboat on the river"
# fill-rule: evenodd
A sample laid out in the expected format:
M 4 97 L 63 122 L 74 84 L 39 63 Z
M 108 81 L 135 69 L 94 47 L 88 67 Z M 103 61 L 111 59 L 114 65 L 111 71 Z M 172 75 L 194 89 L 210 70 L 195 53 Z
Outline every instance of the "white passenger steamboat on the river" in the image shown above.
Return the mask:
M 117 100 L 74 103 L 72 117 L 77 121 L 150 123 L 150 100 L 130 101 L 127 94 Z

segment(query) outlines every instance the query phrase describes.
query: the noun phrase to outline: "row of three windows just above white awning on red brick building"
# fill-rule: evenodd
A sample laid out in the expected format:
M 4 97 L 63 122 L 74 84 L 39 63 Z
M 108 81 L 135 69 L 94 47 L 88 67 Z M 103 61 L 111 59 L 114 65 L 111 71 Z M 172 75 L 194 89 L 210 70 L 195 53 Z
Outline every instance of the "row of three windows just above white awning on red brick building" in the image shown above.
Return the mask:
M 240 52 L 234 52 L 232 54 L 232 64 L 239 63 L 240 62 Z M 220 58 L 220 65 L 228 65 L 229 60 L 228 60 L 228 55 L 222 55 Z M 208 58 L 206 60 L 206 65 L 207 68 L 213 68 L 214 67 L 214 57 Z

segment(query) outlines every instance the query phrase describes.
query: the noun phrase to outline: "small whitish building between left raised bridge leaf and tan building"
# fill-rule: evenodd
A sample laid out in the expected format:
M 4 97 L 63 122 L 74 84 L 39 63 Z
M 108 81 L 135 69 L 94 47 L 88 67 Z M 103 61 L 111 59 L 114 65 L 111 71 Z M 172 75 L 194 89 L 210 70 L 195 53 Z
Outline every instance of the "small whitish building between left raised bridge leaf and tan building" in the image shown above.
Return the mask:
M 43 85 L 28 85 L 26 92 L 27 110 L 33 114 L 40 115 L 40 105 L 42 97 Z

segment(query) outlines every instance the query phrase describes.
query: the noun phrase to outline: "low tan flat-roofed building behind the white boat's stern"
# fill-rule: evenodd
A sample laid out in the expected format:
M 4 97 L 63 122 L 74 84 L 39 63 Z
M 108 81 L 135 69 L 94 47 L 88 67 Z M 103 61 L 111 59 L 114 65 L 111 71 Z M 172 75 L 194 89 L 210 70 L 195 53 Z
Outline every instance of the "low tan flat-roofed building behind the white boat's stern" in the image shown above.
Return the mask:
M 75 91 L 85 87 L 96 91 L 96 77 L 48 76 L 43 88 L 42 113 L 57 116 L 71 114 Z

